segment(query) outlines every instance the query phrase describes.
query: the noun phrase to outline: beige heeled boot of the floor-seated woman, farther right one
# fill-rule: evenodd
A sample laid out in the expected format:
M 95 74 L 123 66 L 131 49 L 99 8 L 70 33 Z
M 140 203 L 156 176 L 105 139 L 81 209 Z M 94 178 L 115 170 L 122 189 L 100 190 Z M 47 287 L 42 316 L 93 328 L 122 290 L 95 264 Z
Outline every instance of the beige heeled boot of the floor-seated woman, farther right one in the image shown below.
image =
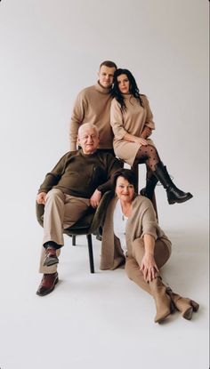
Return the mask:
M 182 312 L 182 317 L 190 320 L 193 311 L 198 311 L 199 305 L 196 301 L 190 300 L 186 297 L 180 296 L 178 293 L 174 293 L 170 287 L 167 287 L 168 295 L 174 302 L 174 306 L 177 310 Z

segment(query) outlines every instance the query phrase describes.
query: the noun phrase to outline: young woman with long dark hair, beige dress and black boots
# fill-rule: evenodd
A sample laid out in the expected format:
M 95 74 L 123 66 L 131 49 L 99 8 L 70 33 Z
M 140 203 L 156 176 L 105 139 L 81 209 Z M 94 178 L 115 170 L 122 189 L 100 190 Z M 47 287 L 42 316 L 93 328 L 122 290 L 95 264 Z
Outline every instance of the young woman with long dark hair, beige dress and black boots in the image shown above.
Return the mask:
M 174 185 L 166 166 L 160 160 L 154 142 L 149 139 L 155 129 L 149 101 L 140 93 L 128 69 L 116 70 L 112 96 L 114 99 L 110 108 L 110 124 L 115 136 L 115 154 L 132 166 L 141 163 L 147 166 L 146 188 L 141 189 L 141 195 L 151 199 L 159 180 L 166 189 L 169 204 L 189 200 L 192 195 Z

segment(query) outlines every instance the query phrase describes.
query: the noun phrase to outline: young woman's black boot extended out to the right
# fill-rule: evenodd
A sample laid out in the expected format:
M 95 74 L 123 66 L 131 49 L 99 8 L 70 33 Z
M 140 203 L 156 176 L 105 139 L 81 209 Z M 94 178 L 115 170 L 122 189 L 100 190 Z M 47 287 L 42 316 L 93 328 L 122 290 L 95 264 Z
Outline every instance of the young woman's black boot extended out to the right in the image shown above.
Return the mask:
M 166 189 L 169 204 L 184 203 L 184 201 L 190 200 L 192 197 L 190 192 L 183 192 L 181 189 L 177 189 L 167 172 L 166 166 L 162 162 L 155 165 L 154 174 Z

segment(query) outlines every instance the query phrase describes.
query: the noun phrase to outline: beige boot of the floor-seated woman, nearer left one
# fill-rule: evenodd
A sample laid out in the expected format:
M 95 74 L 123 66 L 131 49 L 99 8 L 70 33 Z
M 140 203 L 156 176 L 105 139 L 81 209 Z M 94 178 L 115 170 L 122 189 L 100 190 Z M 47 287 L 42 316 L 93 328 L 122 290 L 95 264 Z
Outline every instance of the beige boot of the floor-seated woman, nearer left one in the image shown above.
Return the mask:
M 170 295 L 166 293 L 167 287 L 162 283 L 161 277 L 156 277 L 149 282 L 149 287 L 157 309 L 155 322 L 161 323 L 173 312 L 173 303 Z

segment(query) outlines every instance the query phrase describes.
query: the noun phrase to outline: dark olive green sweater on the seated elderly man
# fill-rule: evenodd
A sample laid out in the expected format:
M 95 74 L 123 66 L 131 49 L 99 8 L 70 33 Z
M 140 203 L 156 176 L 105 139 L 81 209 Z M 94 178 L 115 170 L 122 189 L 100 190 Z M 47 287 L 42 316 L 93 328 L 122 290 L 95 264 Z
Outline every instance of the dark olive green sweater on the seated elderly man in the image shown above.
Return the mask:
M 111 189 L 109 178 L 121 167 L 122 163 L 109 153 L 97 150 L 85 155 L 82 149 L 68 152 L 46 174 L 38 193 L 53 188 L 71 196 L 90 198 L 95 189 L 101 193 Z

